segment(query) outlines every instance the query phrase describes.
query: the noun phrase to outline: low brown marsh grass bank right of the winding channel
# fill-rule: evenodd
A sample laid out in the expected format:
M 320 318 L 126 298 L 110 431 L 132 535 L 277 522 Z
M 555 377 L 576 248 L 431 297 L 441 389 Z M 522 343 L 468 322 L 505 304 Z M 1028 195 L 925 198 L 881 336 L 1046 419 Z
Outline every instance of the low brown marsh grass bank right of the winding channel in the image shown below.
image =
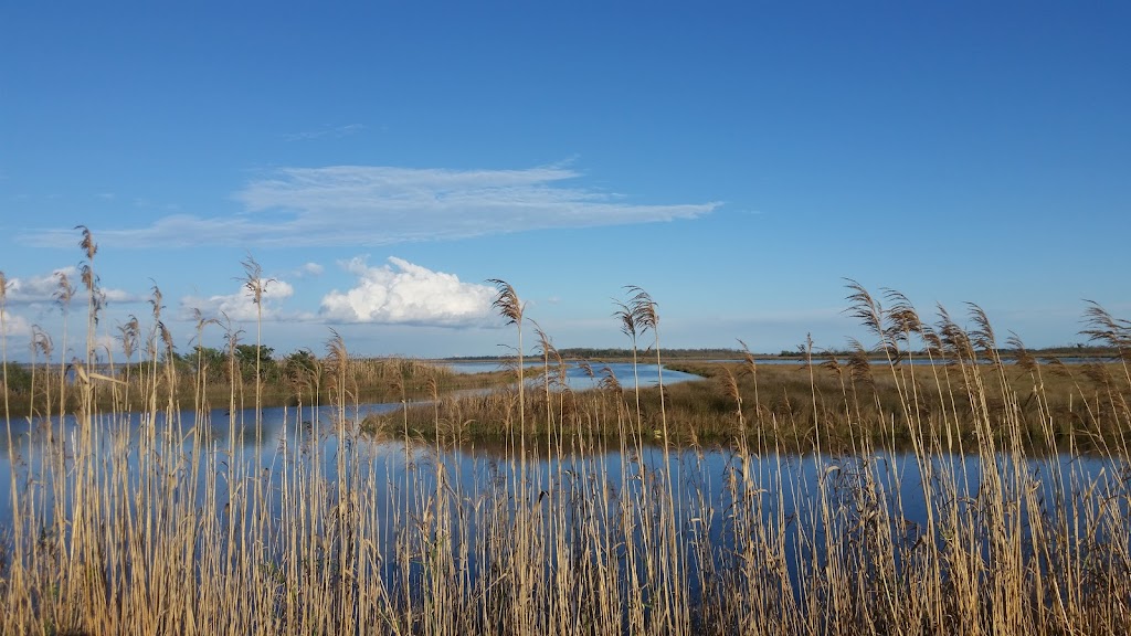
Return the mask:
M 819 429 L 827 450 L 851 450 L 852 442 L 861 437 L 872 444 L 893 444 L 908 449 L 910 430 L 906 426 L 891 426 L 892 418 L 904 418 L 905 405 L 926 426 L 949 422 L 958 439 L 974 444 L 977 407 L 981 407 L 976 402 L 983 399 L 984 415 L 1000 422 L 993 428 L 995 435 L 1008 432 L 1007 422 L 1016 423 L 1029 453 L 1064 449 L 1069 444 L 1081 450 L 1096 449 L 1105 441 L 1117 442 L 1121 436 L 1131 433 L 1112 426 L 1128 421 L 1112 412 L 1119 407 L 1119 399 L 1107 399 L 1110 390 L 1116 397 L 1128 395 L 1125 386 L 1122 393 L 1115 386 L 1123 370 L 1119 362 L 1045 364 L 1037 370 L 1007 364 L 996 381 L 984 384 L 981 389 L 966 386 L 969 375 L 964 377 L 960 368 L 905 362 L 897 371 L 898 381 L 918 388 L 906 404 L 897 389 L 897 377 L 884 366 L 870 368 L 867 377 L 853 377 L 854 371 L 843 362 L 818 366 L 812 377 L 805 364 L 760 364 L 757 376 L 746 363 L 740 362 L 681 361 L 665 367 L 705 378 L 664 388 L 670 435 L 672 442 L 679 445 L 726 445 L 744 428 L 748 436 L 776 436 L 783 448 L 808 452 L 813 448 Z M 985 373 L 991 368 L 979 370 Z M 535 380 L 528 380 L 539 389 L 527 396 L 529 435 L 593 431 L 615 437 L 620 433 L 618 422 L 607 415 L 618 409 L 631 412 L 642 429 L 663 435 L 665 414 L 658 389 L 642 388 L 637 393 L 616 383 L 604 390 L 575 393 L 561 389 L 564 380 L 559 375 L 552 367 L 549 373 L 539 372 Z M 932 390 L 935 383 L 947 389 Z M 501 388 L 480 395 L 441 395 L 438 403 L 409 409 L 407 420 L 414 437 L 430 440 L 439 436 L 450 441 L 456 439 L 454 431 L 464 438 L 501 438 L 508 432 L 504 418 L 508 402 Z M 743 427 L 740 427 L 740 403 Z M 390 422 L 399 426 L 403 419 L 404 413 L 373 415 L 364 426 L 371 431 L 387 430 Z M 1047 422 L 1052 422 L 1050 431 L 1045 430 Z

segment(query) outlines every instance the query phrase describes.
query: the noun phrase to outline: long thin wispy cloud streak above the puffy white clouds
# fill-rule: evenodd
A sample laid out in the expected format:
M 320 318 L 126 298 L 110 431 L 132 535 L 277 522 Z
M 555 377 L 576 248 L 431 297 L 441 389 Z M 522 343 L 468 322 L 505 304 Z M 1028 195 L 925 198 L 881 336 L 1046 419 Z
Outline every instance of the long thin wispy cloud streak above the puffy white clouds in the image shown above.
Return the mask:
M 637 205 L 618 195 L 567 184 L 579 177 L 562 166 L 284 167 L 235 192 L 243 214 L 170 215 L 147 227 L 100 229 L 98 240 L 114 247 L 381 246 L 694 218 L 720 205 Z M 61 246 L 74 242 L 74 232 L 48 230 L 21 238 L 33 244 Z

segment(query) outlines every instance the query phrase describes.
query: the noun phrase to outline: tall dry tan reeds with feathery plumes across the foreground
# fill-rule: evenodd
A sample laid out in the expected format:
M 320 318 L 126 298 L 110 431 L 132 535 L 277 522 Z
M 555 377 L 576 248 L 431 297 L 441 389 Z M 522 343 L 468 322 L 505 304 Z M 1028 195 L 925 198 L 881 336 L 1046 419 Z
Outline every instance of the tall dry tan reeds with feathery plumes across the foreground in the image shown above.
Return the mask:
M 884 309 L 865 290 L 851 291 L 854 311 L 890 355 L 883 373 L 898 388 L 898 409 L 864 407 L 854 383 L 865 378 L 845 373 L 837 421 L 815 418 L 815 409 L 805 421 L 779 421 L 760 403 L 751 359 L 729 377 L 732 435 L 718 454 L 693 440 L 689 449 L 665 444 L 667 415 L 659 427 L 642 418 L 639 387 L 613 376 L 580 394 L 560 386 L 563 362 L 541 329 L 537 398 L 526 383 L 468 398 L 489 404 L 508 431 L 490 449 L 469 437 L 466 404 L 437 399 L 428 406 L 434 439 L 416 439 L 398 415 L 378 432 L 404 438 L 403 453 L 377 454 L 354 415 L 356 367 L 337 336 L 320 360 L 328 403 L 295 407 L 261 458 L 259 445 L 247 447 L 261 432 L 258 409 L 242 421 L 233 393 L 226 431 L 207 411 L 188 418 L 196 403 L 180 403 L 172 356 L 135 369 L 143 394 L 115 399 L 140 405 L 139 428 L 124 407 L 66 410 L 44 393 L 41 416 L 18 429 L 8 420 L 9 433 L 20 432 L 7 447 L 14 479 L 0 631 L 1131 629 L 1125 364 L 1099 378 L 1104 390 L 1080 392 L 1094 418 L 1067 441 L 1072 455 L 1078 439 L 1099 448 L 1105 469 L 1088 472 L 1082 462 L 1026 454 L 1020 398 L 979 310 L 973 330 L 946 315 L 930 327 L 898 296 Z M 521 326 L 517 294 L 509 285 L 500 292 Z M 633 346 L 658 324 L 656 304 L 647 299 L 651 315 L 641 315 L 637 301 L 619 315 Z M 158 350 L 171 346 L 159 304 L 143 338 Z M 1089 335 L 1125 353 L 1129 325 L 1089 311 Z M 899 364 L 913 350 L 936 358 L 938 372 L 924 379 Z M 80 404 L 135 386 L 92 360 L 71 369 Z M 1052 438 L 1060 423 L 1039 405 L 1045 370 L 1027 369 Z M 992 393 L 1005 396 L 1005 409 L 990 407 Z M 930 411 L 923 395 L 936 397 Z M 817 450 L 831 426 L 851 431 L 849 450 Z M 877 429 L 889 433 L 862 432 Z M 800 431 L 815 441 L 805 456 L 786 450 Z M 896 438 L 909 439 L 909 454 Z M 722 472 L 708 471 L 719 458 Z M 709 483 L 710 474 L 723 483 Z

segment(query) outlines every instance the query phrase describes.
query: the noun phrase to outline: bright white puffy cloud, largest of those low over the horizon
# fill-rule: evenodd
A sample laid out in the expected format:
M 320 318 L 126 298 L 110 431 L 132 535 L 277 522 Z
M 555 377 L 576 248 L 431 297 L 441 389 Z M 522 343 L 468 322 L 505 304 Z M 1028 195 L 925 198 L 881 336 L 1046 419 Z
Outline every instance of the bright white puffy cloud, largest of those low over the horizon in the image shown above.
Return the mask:
M 330 321 L 457 327 L 484 325 L 491 315 L 494 289 L 460 282 L 455 274 L 395 257 L 381 267 L 370 267 L 364 258 L 343 266 L 357 281 L 322 299 L 322 317 Z

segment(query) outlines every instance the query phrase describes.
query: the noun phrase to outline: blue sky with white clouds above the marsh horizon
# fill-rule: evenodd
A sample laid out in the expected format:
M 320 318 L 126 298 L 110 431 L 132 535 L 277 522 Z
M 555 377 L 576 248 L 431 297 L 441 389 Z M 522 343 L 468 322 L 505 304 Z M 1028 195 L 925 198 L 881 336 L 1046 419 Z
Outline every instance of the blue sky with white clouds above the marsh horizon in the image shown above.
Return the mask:
M 1080 342 L 1083 299 L 1131 315 L 1129 28 L 1123 2 L 9 2 L 9 355 L 60 338 L 80 224 L 100 330 L 156 285 L 182 350 L 193 309 L 253 338 L 249 256 L 279 352 L 502 353 L 489 278 L 560 347 L 628 345 L 624 285 L 665 346 L 841 347 L 845 278 Z

